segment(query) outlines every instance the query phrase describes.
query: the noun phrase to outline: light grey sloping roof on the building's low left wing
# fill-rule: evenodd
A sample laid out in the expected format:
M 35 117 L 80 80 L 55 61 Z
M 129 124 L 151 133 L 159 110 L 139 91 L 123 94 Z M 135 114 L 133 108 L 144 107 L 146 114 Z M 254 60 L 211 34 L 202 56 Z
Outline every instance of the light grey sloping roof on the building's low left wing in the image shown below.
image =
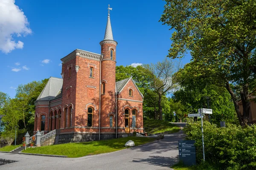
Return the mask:
M 51 100 L 54 99 L 58 94 L 62 95 L 62 93 L 60 93 L 62 84 L 63 79 L 50 77 L 37 100 Z

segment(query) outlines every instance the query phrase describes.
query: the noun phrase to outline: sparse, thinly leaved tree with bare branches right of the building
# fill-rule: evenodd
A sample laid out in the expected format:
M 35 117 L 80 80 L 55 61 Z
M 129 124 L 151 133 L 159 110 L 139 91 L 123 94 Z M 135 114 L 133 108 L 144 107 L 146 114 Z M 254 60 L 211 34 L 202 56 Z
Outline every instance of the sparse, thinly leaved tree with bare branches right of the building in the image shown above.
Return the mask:
M 163 62 L 157 62 L 157 64 L 144 65 L 151 76 L 151 88 L 158 95 L 158 108 L 159 119 L 163 118 L 163 106 L 162 97 L 168 94 L 171 90 L 177 87 L 176 72 L 179 70 L 180 63 L 174 62 L 169 59 L 164 59 Z

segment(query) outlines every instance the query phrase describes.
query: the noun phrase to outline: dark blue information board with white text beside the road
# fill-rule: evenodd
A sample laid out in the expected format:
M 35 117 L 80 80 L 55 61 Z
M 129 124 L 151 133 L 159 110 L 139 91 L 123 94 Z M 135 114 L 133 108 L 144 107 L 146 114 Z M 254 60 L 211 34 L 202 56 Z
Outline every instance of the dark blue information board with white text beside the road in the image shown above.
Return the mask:
M 179 141 L 179 158 L 187 166 L 196 164 L 195 160 L 195 141 Z

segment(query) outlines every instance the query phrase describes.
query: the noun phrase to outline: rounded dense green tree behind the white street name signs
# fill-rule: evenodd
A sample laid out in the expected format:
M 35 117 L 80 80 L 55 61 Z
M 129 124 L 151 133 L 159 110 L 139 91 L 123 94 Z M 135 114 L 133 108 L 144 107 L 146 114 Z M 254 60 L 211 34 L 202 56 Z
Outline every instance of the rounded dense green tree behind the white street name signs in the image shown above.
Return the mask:
M 224 87 L 212 84 L 211 78 L 201 79 L 197 76 L 193 67 L 193 62 L 188 63 L 178 72 L 182 81 L 180 90 L 174 93 L 174 99 L 180 101 L 193 113 L 197 113 L 198 108 L 207 108 L 205 96 L 210 96 L 210 108 L 213 109 L 212 121 L 217 123 L 221 120 L 233 122 L 235 118 L 235 108 L 230 94 Z

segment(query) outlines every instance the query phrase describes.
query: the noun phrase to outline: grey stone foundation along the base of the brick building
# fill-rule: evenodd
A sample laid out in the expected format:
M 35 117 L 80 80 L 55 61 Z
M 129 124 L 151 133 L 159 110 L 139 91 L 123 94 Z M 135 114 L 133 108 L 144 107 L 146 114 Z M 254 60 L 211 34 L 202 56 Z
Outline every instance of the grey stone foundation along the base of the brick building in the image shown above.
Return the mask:
M 129 133 L 117 134 L 117 138 L 128 137 Z M 133 136 L 132 133 L 130 136 Z M 103 133 L 100 134 L 101 140 L 115 139 L 115 133 Z M 64 144 L 69 142 L 89 142 L 89 141 L 98 141 L 99 133 L 64 133 L 56 134 L 55 144 Z

